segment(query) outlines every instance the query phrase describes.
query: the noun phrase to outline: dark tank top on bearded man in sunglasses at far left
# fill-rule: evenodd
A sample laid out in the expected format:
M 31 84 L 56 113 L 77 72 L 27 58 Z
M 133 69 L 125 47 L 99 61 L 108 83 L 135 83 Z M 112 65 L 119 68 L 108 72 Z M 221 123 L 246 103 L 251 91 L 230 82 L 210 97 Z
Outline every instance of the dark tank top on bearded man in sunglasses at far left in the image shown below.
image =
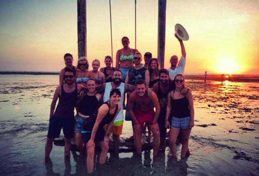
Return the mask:
M 57 108 L 55 110 L 55 117 L 63 118 L 73 118 L 74 117 L 74 108 L 77 103 L 77 84 L 76 88 L 71 93 L 66 93 L 64 90 L 64 84 L 61 85 L 61 95 L 59 96 L 59 101 Z

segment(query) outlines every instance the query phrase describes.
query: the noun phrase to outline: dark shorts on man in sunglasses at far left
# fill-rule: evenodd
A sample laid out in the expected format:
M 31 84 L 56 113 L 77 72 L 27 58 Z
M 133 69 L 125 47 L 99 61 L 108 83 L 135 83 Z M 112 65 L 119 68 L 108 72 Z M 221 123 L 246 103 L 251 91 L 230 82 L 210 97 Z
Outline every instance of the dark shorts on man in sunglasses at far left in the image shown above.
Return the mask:
M 64 118 L 52 116 L 49 119 L 48 138 L 59 138 L 61 128 L 65 138 L 74 137 L 74 117 Z

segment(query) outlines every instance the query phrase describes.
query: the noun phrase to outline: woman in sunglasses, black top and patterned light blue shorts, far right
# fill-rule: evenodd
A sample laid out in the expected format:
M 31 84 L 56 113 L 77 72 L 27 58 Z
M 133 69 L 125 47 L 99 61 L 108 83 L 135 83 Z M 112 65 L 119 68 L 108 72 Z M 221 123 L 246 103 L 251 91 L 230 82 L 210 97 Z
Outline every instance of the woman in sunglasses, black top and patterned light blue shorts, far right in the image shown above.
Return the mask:
M 169 144 L 172 157 L 176 157 L 176 139 L 181 131 L 181 157 L 189 155 L 188 145 L 191 128 L 194 126 L 194 107 L 191 91 L 187 91 L 186 95 L 181 94 L 181 90 L 185 87 L 184 76 L 177 74 L 173 81 L 175 89 L 171 90 L 167 95 L 167 111 L 165 126 L 169 127 Z M 169 117 L 172 117 L 169 122 Z

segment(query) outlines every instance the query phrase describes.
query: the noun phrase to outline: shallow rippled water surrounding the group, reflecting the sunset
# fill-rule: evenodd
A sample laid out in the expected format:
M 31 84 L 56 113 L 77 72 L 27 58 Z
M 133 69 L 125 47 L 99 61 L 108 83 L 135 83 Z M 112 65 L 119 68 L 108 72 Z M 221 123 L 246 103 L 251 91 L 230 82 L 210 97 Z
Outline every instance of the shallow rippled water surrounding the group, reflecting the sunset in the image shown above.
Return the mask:
M 194 95 L 195 126 L 190 157 L 153 158 L 108 154 L 94 175 L 259 175 L 259 83 L 187 80 Z M 85 175 L 86 161 L 78 152 L 64 158 L 64 147 L 53 146 L 51 161 L 44 161 L 49 108 L 57 75 L 0 75 L 0 175 Z M 124 122 L 122 137 L 132 134 Z M 61 132 L 61 137 L 63 136 Z M 158 161 L 156 161 L 158 160 Z

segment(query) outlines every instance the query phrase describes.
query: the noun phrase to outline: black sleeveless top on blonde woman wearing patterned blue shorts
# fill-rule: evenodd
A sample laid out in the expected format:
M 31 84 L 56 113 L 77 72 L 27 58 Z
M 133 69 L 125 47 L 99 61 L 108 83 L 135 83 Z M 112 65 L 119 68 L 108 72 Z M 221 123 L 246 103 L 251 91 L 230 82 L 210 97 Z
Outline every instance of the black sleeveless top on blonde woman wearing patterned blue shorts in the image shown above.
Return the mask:
M 98 108 L 99 101 L 95 95 L 85 94 L 79 103 L 79 112 L 83 115 L 92 115 Z

